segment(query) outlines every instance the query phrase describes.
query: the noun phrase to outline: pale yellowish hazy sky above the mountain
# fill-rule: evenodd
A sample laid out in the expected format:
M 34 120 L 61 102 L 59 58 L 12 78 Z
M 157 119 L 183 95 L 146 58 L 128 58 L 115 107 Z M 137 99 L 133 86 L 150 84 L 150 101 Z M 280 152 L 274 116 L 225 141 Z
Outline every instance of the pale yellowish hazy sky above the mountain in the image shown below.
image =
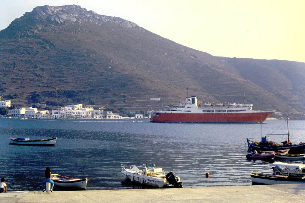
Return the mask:
M 0 30 L 39 5 L 76 4 L 213 56 L 305 62 L 305 0 L 0 0 Z

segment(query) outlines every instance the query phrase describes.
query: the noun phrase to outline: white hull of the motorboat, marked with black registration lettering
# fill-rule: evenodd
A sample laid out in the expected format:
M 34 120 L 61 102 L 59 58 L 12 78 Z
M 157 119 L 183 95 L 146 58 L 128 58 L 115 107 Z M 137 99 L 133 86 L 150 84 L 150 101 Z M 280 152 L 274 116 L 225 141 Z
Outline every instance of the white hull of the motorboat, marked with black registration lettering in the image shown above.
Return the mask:
M 131 182 L 136 182 L 138 184 L 150 185 L 154 187 L 164 187 L 165 177 L 153 177 L 153 176 L 145 176 L 136 173 L 130 173 L 125 170 L 121 170 L 121 173 L 126 175 L 126 179 Z

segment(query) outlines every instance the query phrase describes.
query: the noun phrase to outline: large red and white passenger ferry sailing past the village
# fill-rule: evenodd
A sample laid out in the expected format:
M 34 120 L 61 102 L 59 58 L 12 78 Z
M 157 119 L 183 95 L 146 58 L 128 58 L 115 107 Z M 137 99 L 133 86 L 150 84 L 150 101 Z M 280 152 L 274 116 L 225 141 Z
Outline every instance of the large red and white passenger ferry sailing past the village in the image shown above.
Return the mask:
M 201 103 L 188 96 L 185 103 L 153 111 L 150 121 L 160 123 L 263 123 L 275 111 L 252 110 L 253 104 Z

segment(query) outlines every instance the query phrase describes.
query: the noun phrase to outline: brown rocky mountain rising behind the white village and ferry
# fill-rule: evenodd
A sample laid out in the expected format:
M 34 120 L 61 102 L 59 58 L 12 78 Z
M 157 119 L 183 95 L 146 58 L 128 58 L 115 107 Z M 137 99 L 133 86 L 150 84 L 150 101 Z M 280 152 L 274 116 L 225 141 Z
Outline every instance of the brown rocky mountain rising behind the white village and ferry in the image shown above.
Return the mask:
M 20 105 L 159 109 L 188 88 L 201 102 L 246 95 L 254 109 L 304 117 L 305 63 L 214 57 L 77 5 L 38 6 L 0 42 L 0 95 Z

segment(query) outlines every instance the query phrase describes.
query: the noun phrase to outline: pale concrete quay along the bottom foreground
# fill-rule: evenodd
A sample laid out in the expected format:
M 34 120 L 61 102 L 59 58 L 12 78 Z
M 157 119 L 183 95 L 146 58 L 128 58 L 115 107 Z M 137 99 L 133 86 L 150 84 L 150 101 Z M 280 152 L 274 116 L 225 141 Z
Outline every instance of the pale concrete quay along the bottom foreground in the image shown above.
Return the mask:
M 301 202 L 305 184 L 224 186 L 169 189 L 127 189 L 87 191 L 21 191 L 0 194 L 2 203 L 70 202 Z

